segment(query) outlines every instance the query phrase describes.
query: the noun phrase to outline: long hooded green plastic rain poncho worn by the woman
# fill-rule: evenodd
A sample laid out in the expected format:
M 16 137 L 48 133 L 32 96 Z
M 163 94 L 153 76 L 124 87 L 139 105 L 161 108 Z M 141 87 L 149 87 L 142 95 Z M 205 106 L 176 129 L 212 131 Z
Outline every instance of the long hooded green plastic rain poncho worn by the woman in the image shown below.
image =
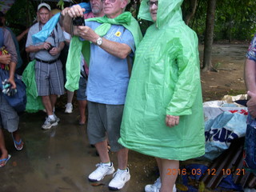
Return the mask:
M 142 0 L 139 18 L 152 20 Z M 182 0 L 158 0 L 157 22 L 135 53 L 122 118 L 122 146 L 186 160 L 205 152 L 197 35 L 182 21 Z M 166 114 L 180 117 L 166 126 Z

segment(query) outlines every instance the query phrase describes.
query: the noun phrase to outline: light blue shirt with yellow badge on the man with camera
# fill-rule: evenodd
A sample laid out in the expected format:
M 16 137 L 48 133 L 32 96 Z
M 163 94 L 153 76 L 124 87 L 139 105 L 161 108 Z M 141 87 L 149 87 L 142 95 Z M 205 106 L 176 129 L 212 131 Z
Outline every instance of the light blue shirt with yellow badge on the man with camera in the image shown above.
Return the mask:
M 101 23 L 98 22 L 86 22 L 86 26 L 90 26 L 93 30 L 100 25 Z M 130 46 L 134 53 L 133 35 L 123 26 L 112 25 L 104 38 L 114 42 L 125 43 Z M 129 58 L 134 55 L 133 53 L 129 55 Z M 117 58 L 91 43 L 89 77 L 86 90 L 88 101 L 109 105 L 124 104 L 129 78 L 126 58 Z

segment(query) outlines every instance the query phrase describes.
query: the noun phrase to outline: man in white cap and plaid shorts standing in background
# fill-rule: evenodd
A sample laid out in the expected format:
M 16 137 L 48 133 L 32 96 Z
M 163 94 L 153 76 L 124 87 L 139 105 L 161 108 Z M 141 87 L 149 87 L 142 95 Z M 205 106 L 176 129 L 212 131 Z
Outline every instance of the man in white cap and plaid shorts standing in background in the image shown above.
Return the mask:
M 43 106 L 46 109 L 46 121 L 42 125 L 43 130 L 57 126 L 59 118 L 54 114 L 54 106 L 58 95 L 64 94 L 64 79 L 62 62 L 59 55 L 64 47 L 64 37 L 61 26 L 57 23 L 45 42 L 33 44 L 32 35 L 42 30 L 42 26 L 50 20 L 50 6 L 47 3 L 38 5 L 38 22 L 30 27 L 26 40 L 26 52 L 34 53 L 35 78 L 38 96 L 42 97 Z

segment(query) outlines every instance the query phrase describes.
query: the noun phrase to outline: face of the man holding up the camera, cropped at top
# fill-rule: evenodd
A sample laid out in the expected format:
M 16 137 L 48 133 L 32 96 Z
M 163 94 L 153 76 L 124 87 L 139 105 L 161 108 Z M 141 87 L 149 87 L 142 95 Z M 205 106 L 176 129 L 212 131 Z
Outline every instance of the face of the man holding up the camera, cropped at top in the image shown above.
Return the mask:
M 122 10 L 126 7 L 127 0 L 102 0 L 103 11 L 108 18 L 116 18 L 122 14 Z

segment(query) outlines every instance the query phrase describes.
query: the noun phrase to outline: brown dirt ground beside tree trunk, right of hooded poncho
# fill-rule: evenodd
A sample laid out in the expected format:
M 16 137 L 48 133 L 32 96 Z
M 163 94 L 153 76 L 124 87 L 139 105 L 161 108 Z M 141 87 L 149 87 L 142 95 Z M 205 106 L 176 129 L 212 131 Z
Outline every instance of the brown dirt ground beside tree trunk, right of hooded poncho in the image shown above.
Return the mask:
M 224 95 L 246 94 L 243 77 L 248 44 L 214 44 L 212 64 L 218 72 L 201 73 L 204 101 L 218 100 Z M 202 61 L 203 46 L 199 46 Z

